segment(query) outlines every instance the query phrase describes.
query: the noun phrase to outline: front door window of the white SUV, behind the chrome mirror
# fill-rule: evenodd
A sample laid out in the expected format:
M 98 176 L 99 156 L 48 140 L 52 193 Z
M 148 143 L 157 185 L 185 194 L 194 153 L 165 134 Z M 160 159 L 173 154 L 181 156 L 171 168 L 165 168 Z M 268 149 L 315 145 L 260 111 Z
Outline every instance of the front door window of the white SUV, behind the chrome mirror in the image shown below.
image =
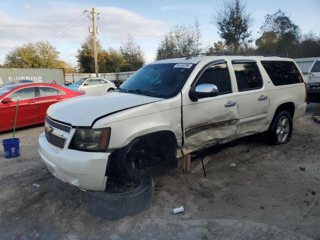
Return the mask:
M 219 94 L 231 91 L 231 82 L 226 63 L 213 64 L 206 68 L 196 82 L 196 86 L 202 83 L 214 84 L 219 89 Z

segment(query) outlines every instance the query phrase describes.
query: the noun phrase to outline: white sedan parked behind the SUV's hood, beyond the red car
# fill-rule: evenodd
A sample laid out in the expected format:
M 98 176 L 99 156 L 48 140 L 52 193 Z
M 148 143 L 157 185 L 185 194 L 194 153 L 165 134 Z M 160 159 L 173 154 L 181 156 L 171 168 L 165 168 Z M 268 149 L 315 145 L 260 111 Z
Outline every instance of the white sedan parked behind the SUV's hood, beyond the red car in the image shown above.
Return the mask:
M 64 86 L 73 90 L 83 90 L 85 93 L 111 91 L 116 89 L 116 86 L 111 81 L 101 77 L 84 77 L 78 79 L 73 84 Z

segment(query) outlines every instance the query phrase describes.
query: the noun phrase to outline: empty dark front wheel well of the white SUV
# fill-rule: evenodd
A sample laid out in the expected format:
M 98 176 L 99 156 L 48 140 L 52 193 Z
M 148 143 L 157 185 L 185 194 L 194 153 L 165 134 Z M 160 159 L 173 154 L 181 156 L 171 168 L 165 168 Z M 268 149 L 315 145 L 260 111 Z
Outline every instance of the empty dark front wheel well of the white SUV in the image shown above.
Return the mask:
M 105 173 L 114 175 L 132 165 L 140 168 L 144 165 L 155 165 L 164 159 L 173 159 L 176 148 L 176 137 L 170 130 L 138 136 L 126 146 L 115 149 L 110 154 Z

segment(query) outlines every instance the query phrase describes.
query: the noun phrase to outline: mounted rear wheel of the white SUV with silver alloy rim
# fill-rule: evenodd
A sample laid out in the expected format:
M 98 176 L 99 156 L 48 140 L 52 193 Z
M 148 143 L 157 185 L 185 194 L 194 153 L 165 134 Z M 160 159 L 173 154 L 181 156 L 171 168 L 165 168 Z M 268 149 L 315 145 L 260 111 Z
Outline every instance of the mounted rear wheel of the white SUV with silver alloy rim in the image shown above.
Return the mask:
M 276 113 L 266 132 L 267 139 L 271 144 L 283 144 L 291 140 L 292 116 L 288 111 Z

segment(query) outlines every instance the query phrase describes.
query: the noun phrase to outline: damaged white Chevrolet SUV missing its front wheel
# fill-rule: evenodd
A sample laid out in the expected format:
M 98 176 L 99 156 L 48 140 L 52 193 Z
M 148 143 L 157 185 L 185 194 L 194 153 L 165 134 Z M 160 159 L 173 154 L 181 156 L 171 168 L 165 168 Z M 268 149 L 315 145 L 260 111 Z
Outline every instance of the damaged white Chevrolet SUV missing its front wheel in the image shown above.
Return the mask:
M 73 186 L 106 191 L 108 178 L 257 132 L 290 140 L 306 107 L 289 58 L 181 57 L 149 63 L 114 91 L 51 105 L 39 154 Z M 110 178 L 111 179 L 111 178 Z

